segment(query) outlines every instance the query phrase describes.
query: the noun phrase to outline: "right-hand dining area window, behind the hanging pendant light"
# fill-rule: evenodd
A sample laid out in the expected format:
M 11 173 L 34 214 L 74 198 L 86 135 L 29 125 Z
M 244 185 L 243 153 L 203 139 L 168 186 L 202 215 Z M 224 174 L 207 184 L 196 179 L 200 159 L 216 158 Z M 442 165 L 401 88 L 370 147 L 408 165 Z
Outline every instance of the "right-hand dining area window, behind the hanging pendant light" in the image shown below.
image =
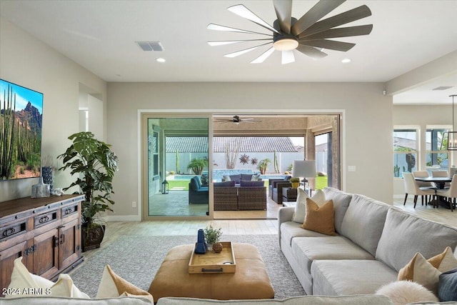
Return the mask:
M 448 169 L 448 129 L 429 129 L 426 131 L 426 165 Z

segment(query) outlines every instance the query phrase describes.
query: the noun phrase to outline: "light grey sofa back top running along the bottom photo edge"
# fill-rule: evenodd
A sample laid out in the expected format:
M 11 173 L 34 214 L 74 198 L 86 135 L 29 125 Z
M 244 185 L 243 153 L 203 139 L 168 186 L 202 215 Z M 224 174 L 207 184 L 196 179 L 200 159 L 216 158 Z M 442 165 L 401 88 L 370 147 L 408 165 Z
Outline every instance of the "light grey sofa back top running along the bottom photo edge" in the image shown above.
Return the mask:
M 157 305 L 392 305 L 387 296 L 291 296 L 286 299 L 261 299 L 261 300 L 210 300 L 191 299 L 179 297 L 165 297 L 159 299 Z

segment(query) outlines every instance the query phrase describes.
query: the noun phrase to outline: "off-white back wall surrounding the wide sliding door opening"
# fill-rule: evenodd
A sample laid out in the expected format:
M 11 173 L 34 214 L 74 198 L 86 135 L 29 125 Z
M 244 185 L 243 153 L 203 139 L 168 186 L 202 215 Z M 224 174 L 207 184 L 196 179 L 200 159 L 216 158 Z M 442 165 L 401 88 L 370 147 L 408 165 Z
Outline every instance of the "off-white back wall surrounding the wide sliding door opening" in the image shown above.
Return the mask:
M 114 210 L 135 215 L 138 198 L 138 110 L 246 109 L 298 113 L 343 109 L 343 189 L 392 202 L 392 98 L 378 83 L 109 83 L 108 142 L 119 156 Z M 126 103 L 126 101 L 129 101 Z M 347 172 L 347 165 L 356 172 Z

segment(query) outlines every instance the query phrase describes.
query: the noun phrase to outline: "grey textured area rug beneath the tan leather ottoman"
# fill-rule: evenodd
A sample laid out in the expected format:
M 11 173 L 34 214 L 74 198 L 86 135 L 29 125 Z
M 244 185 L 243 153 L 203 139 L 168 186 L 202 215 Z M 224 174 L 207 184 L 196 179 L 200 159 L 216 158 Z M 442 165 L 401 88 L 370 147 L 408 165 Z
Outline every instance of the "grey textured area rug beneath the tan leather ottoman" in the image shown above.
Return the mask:
M 174 246 L 193 244 L 196 236 L 120 236 L 109 246 L 86 259 L 69 274 L 74 284 L 95 297 L 104 266 L 141 289 L 148 290 L 166 253 Z M 305 291 L 278 246 L 278 236 L 224 235 L 224 241 L 253 244 L 258 248 L 271 279 L 275 299 L 302 296 Z

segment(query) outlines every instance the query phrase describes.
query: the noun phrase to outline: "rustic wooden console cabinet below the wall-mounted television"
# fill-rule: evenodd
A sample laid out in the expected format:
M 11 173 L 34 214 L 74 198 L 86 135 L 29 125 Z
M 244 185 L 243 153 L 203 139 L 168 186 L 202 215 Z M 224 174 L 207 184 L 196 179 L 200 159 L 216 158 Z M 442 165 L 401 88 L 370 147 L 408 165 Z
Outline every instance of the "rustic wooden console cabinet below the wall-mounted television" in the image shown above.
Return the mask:
M 84 195 L 0 202 L 0 284 L 11 281 L 14 259 L 33 274 L 55 279 L 80 263 Z

